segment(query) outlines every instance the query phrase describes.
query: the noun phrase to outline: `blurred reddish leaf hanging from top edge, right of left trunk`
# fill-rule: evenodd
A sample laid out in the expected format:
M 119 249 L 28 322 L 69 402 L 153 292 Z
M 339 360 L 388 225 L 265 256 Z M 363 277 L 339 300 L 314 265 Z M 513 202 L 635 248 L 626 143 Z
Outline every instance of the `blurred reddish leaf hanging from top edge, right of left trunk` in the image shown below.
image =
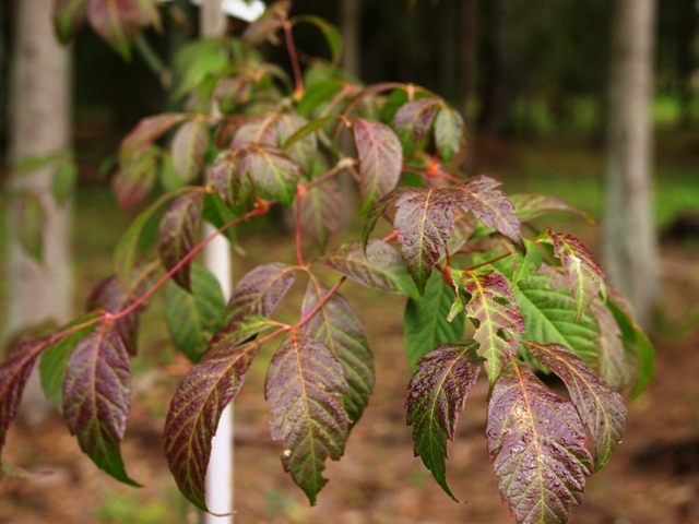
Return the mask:
M 141 27 L 142 13 L 135 0 L 88 0 L 87 16 L 95 33 L 122 56 L 129 57 L 129 39 Z

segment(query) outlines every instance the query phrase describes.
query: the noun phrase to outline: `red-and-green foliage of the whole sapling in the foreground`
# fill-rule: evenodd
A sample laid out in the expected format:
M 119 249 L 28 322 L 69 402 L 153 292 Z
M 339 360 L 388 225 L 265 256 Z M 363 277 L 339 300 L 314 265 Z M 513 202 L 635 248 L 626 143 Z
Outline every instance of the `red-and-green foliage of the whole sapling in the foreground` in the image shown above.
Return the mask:
M 123 12 L 105 13 L 99 9 L 106 2 L 91 2 L 87 16 L 123 52 L 138 25 L 130 16 L 150 3 L 129 0 Z M 72 16 L 85 14 L 78 7 L 59 2 L 57 20 L 66 34 L 81 21 Z M 158 172 L 175 189 L 143 211 L 119 241 L 115 275 L 88 300 L 94 313 L 13 348 L 0 365 L 0 444 L 44 354 L 47 395 L 61 402 L 83 451 L 134 485 L 119 451 L 130 356 L 144 305 L 165 286 L 168 331 L 192 362 L 164 433 L 180 491 L 206 510 L 204 476 L 221 414 L 262 346 L 281 338 L 265 381 L 271 434 L 283 441 L 284 469 L 315 504 L 327 483 L 327 460 L 343 455 L 375 385 L 369 341 L 339 293 L 350 279 L 407 297 L 405 346 L 414 370 L 407 422 L 415 454 L 445 491 L 454 498 L 446 481 L 447 440 L 454 438 L 469 390 L 484 368 L 490 386 L 486 437 L 502 498 L 519 523 L 566 522 L 572 504 L 582 501 L 585 477 L 621 439 L 626 408 L 615 389 L 640 393 L 653 365 L 652 346 L 626 299 L 606 289 L 592 253 L 568 234 L 522 231 L 522 223 L 545 213 L 584 213 L 543 195 L 508 198 L 485 175 L 465 179 L 459 170 L 463 119 L 426 90 L 365 87 L 322 62 L 303 74 L 294 24 L 319 27 L 333 61 L 341 40 L 328 23 L 289 19 L 288 9 L 288 2 L 270 5 L 241 39 L 186 48 L 177 61 L 182 80 L 176 96 L 187 98 L 192 112 L 150 117 L 123 140 L 115 181 L 123 206 L 139 203 Z M 293 85 L 254 49 L 282 39 Z M 169 143 L 155 144 L 177 126 Z M 356 155 L 346 156 L 337 144 L 343 127 Z M 205 170 L 211 177 L 203 187 L 185 186 Z M 342 170 L 358 186 L 353 211 L 367 216 L 362 239 L 337 245 L 334 234 L 346 205 L 337 181 Z M 276 203 L 293 207 L 296 260 L 252 269 L 226 303 L 215 278 L 191 263 L 209 241 L 200 240 L 200 223 L 235 238 L 234 226 Z M 393 233 L 370 238 L 381 219 Z M 156 221 L 158 227 L 151 227 Z M 153 241 L 146 241 L 150 229 L 157 229 Z M 312 242 L 304 242 L 306 237 Z M 318 264 L 323 271 L 317 272 Z M 153 284 L 157 272 L 164 274 Z M 299 278 L 307 283 L 298 320 L 282 322 L 276 310 Z M 466 321 L 473 340 L 464 340 Z M 556 373 L 570 401 L 540 382 L 532 366 Z

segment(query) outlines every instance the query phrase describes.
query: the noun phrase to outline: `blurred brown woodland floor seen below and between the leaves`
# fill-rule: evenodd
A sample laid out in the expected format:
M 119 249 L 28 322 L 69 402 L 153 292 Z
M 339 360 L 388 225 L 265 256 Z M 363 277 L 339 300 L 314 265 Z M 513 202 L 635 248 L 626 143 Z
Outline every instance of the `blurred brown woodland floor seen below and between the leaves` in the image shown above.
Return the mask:
M 116 226 L 115 226 L 116 227 Z M 594 245 L 588 226 L 579 233 Z M 116 241 L 116 240 L 115 240 Z M 288 246 L 259 239 L 248 259 L 286 258 Z M 263 249 L 262 249 L 263 248 Z M 275 252 L 279 251 L 279 252 Z M 85 270 L 94 284 L 104 260 Z M 239 262 L 242 274 L 252 262 Z M 104 271 L 102 271 L 104 274 Z M 656 378 L 629 406 L 623 443 L 611 462 L 588 480 L 582 508 L 571 523 L 699 524 L 699 250 L 667 247 L 663 255 L 664 307 L 653 333 Z M 236 522 L 401 524 L 466 522 L 512 523 L 500 502 L 484 438 L 487 384 L 471 392 L 450 446 L 448 480 L 464 504 L 453 502 L 413 457 L 403 402 L 410 379 L 403 353 L 404 298 L 387 297 L 347 284 L 342 291 L 356 307 L 376 357 L 377 385 L 363 419 L 353 430 L 345 455 L 329 463 L 330 479 L 315 508 L 308 505 L 283 469 L 282 444 L 269 436 L 271 418 L 262 386 L 266 348 L 236 401 Z M 296 289 L 297 299 L 303 287 Z M 293 314 L 293 308 L 281 312 Z M 58 416 L 44 426 L 15 425 L 3 458 L 50 475 L 0 483 L 0 523 L 186 523 L 197 515 L 177 492 L 162 452 L 161 431 L 167 402 L 177 383 L 154 371 L 166 353 L 162 333 L 144 335 L 143 356 L 134 362 L 134 395 L 122 452 L 132 478 L 129 488 L 107 477 L 80 452 Z

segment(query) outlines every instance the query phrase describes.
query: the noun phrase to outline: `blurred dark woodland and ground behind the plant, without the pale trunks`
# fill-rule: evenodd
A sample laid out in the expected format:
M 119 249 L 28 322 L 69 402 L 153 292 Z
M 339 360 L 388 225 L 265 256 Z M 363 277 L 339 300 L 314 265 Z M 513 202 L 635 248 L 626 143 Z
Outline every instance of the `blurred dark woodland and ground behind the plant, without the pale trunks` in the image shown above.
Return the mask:
M 19 110 L 11 72 L 19 50 L 25 50 L 17 44 L 20 32 L 29 31 L 17 23 L 20 2 L 29 0 L 0 2 L 0 181 L 5 192 L 16 159 L 12 147 L 19 147 L 13 139 L 16 123 L 11 123 Z M 618 115 L 618 98 L 611 92 L 618 71 L 624 71 L 613 60 L 619 59 L 614 43 L 638 31 L 618 15 L 621 3 L 296 0 L 292 13 L 317 14 L 337 25 L 346 44 L 344 66 L 363 82 L 412 82 L 445 96 L 463 112 L 469 129 L 464 172 L 486 172 L 503 180 L 506 192 L 552 194 L 591 213 L 596 225 L 566 216 L 552 221 L 604 258 L 614 157 L 609 119 Z M 641 155 L 649 166 L 651 227 L 642 242 L 650 246 L 650 254 L 639 247 L 638 257 L 656 258 L 651 276 L 639 282 L 656 289 L 650 294 L 654 306 L 644 322 L 657 348 L 656 379 L 631 404 L 627 437 L 617 454 L 589 480 L 584 505 L 573 510 L 570 521 L 577 523 L 699 523 L 699 2 L 649 3 L 652 95 L 640 111 L 647 109 L 650 116 Z M 115 153 L 141 118 L 174 107 L 157 62 L 167 66 L 178 48 L 198 36 L 199 8 L 173 0 L 161 9 L 164 31 L 144 29 L 141 38 L 147 45 L 137 46 L 130 61 L 88 28 L 62 51 L 72 61 L 68 95 L 48 106 L 62 104 L 68 111 L 66 140 L 74 151 L 79 181 L 64 241 L 72 258 L 67 270 L 71 295 L 58 307 L 59 321 L 82 309 L 90 289 L 111 271 L 111 250 L 138 212 L 120 211 L 109 188 Z M 244 26 L 229 22 L 233 31 Z M 299 49 L 309 57 L 327 55 L 322 36 L 306 29 L 295 32 Z M 262 50 L 288 66 L 283 49 L 265 44 Z M 150 53 L 156 57 L 155 66 Z M 633 60 L 631 55 L 626 58 Z M 624 51 L 620 56 L 623 62 Z M 25 135 L 31 143 L 31 126 Z M 2 209 L 0 340 L 7 340 L 21 321 L 20 313 L 11 311 L 16 262 L 9 206 Z M 358 224 L 350 224 L 348 230 Z M 248 231 L 241 240 L 247 255 L 235 259 L 234 275 L 293 257 L 293 246 L 280 241 L 286 238 L 281 235 L 275 224 Z M 51 261 L 49 253 L 47 264 Z M 620 271 L 627 269 L 632 272 L 624 265 Z M 269 437 L 262 383 L 271 354 L 263 356 L 236 404 L 238 522 L 513 522 L 500 503 L 483 438 L 487 389 L 470 396 L 451 448 L 449 483 L 467 500 L 455 504 L 413 458 L 402 407 L 410 379 L 401 332 L 404 299 L 378 300 L 371 290 L 353 285 L 346 295 L 360 312 L 377 358 L 377 386 L 365 418 L 353 431 L 343 461 L 329 465 L 331 481 L 319 507 L 309 508 L 283 473 L 281 449 Z M 45 299 L 29 294 L 27 300 L 32 309 Z M 5 457 L 54 474 L 26 481 L 3 479 L 0 522 L 196 522 L 162 457 L 161 431 L 177 373 L 163 372 L 157 365 L 173 368 L 178 361 L 157 320 L 158 308 L 154 303 L 153 314 L 144 319 L 144 349 L 133 364 L 133 414 L 123 444 L 127 467 L 146 487 L 128 488 L 99 473 L 80 453 L 64 422 L 47 412 L 37 420 L 20 420 L 8 438 Z

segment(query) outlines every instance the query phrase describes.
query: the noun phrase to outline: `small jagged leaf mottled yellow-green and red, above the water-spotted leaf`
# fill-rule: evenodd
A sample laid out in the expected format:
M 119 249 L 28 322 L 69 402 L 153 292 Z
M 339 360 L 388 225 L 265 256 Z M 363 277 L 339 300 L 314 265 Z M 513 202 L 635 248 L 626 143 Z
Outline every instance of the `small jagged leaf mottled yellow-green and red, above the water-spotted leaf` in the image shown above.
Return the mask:
M 473 337 L 481 344 L 478 354 L 486 359 L 485 369 L 493 384 L 517 353 L 520 335 L 524 333 L 524 319 L 507 279 L 500 273 L 465 271 L 460 284 L 471 295 L 464 309 L 470 318 L 478 321 Z M 507 331 L 509 338 L 500 330 Z

